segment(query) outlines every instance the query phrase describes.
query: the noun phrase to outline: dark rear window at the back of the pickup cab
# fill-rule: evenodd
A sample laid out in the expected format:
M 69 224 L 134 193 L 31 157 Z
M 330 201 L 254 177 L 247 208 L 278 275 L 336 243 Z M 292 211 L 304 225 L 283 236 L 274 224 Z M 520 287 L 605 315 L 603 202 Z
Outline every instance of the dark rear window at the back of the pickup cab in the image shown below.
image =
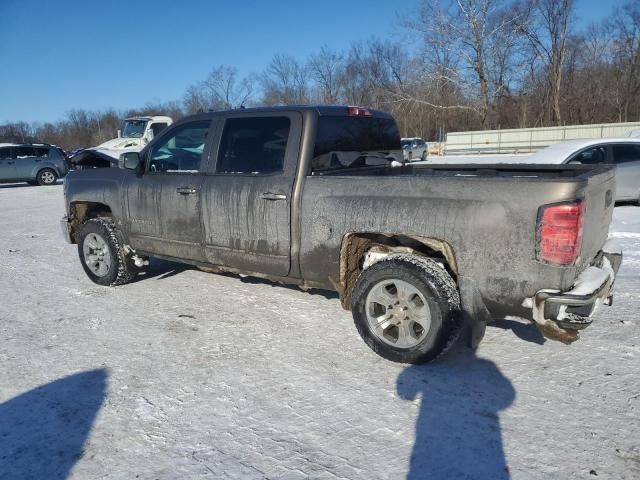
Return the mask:
M 392 118 L 318 117 L 311 174 L 402 162 L 400 132 Z

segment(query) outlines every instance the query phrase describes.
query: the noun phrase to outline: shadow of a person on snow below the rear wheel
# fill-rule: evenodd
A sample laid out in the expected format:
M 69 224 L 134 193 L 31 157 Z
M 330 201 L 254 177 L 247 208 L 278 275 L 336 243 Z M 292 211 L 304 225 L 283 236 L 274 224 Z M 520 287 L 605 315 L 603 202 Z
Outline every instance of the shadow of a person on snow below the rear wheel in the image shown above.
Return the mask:
M 408 479 L 510 478 L 498 412 L 515 390 L 493 362 L 470 349 L 451 352 L 406 368 L 397 390 L 405 400 L 421 397 Z

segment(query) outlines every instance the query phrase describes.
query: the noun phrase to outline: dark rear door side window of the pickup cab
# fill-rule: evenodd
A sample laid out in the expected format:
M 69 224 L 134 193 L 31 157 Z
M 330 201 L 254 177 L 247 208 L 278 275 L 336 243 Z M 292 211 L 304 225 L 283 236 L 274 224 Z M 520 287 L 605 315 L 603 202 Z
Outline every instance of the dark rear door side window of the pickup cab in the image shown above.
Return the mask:
M 281 172 L 290 129 L 288 117 L 227 119 L 216 172 L 249 175 Z

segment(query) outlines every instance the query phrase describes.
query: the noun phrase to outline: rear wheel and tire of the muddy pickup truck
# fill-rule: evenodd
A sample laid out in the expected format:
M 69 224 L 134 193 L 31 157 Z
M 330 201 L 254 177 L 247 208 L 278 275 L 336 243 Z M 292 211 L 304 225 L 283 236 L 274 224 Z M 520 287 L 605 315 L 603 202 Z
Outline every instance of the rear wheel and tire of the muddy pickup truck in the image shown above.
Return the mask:
M 365 269 L 351 309 L 365 343 L 393 362 L 434 360 L 462 326 L 455 282 L 434 260 L 417 255 L 391 255 Z

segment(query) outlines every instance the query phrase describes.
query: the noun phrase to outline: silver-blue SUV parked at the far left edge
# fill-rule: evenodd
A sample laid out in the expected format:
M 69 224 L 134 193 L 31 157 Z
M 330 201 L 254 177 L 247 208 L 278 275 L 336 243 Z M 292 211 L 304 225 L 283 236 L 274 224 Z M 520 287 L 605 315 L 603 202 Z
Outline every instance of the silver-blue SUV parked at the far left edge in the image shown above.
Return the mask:
M 0 143 L 0 182 L 53 185 L 68 171 L 64 152 L 54 145 Z

